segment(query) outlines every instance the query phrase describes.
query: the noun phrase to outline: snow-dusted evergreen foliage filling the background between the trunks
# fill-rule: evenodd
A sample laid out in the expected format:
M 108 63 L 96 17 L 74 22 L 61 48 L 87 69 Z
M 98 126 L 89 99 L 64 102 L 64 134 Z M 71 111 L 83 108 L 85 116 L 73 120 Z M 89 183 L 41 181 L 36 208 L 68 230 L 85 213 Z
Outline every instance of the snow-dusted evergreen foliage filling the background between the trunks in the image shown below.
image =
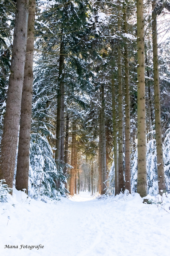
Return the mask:
M 0 130 L 6 106 L 6 92 L 10 69 L 11 39 L 14 27 L 15 3 L 0 3 Z M 124 33 L 123 10 L 127 7 L 128 33 Z M 145 79 L 146 79 L 146 128 L 147 128 L 147 186 L 150 195 L 158 192 L 156 142 L 154 134 L 154 111 L 149 131 L 150 104 L 154 109 L 153 53 L 151 3 L 145 5 Z M 162 15 L 169 10 L 168 1 L 157 1 L 154 12 Z M 104 88 L 107 193 L 114 194 L 115 167 L 113 151 L 112 78 L 114 79 L 116 123 L 118 109 L 118 49 L 121 53 L 123 102 L 122 115 L 125 122 L 125 64 L 124 46 L 128 46 L 130 83 L 130 154 L 131 187 L 137 191 L 137 24 L 134 1 L 37 1 L 35 20 L 34 85 L 32 105 L 32 128 L 30 143 L 29 195 L 45 200 L 65 195 L 69 184 L 72 147 L 72 125 L 76 123 L 76 152 L 78 189 L 89 185 L 92 167 L 100 168 L 100 113 L 102 109 L 101 88 Z M 119 23 L 118 24 L 118 15 Z M 120 25 L 120 28 L 119 28 Z M 60 43 L 63 51 L 60 52 Z M 164 140 L 164 161 L 167 189 L 170 190 L 170 68 L 169 37 L 159 45 L 159 72 L 161 93 L 161 118 Z M 57 96 L 59 95 L 59 55 L 64 56 L 64 138 L 68 132 L 68 159 L 62 164 L 54 161 Z M 66 131 L 66 118 L 69 127 Z M 125 127 L 123 127 L 124 129 Z M 125 130 L 125 129 L 124 129 Z M 118 128 L 117 128 L 118 134 Z M 1 131 L 0 131 L 1 135 Z M 151 135 L 151 137 L 149 136 Z M 63 135 L 62 135 L 63 136 Z M 152 140 L 150 139 L 152 138 Z M 123 144 L 125 135 L 123 134 Z M 65 141 L 66 145 L 66 141 Z M 102 147 L 102 146 L 101 146 Z M 93 164 L 93 165 L 92 165 Z M 83 170 L 85 166 L 86 171 Z M 81 169 L 82 168 L 82 169 Z M 89 169 L 88 169 L 89 168 Z M 67 171 L 65 172 L 64 170 Z M 88 170 L 88 171 L 87 171 Z M 110 173 L 109 173 L 110 170 Z M 125 180 L 125 145 L 123 146 L 123 173 Z M 88 175 L 87 175 L 88 174 Z M 93 178 L 98 177 L 94 174 Z M 82 179 L 82 180 L 81 180 Z M 60 186 L 57 187 L 59 180 Z M 87 181 L 88 180 L 88 181 Z M 84 184 L 81 184 L 81 181 Z M 100 181 L 98 180 L 98 183 Z M 86 183 L 86 184 L 85 184 Z M 99 190 L 99 188 L 98 188 Z

